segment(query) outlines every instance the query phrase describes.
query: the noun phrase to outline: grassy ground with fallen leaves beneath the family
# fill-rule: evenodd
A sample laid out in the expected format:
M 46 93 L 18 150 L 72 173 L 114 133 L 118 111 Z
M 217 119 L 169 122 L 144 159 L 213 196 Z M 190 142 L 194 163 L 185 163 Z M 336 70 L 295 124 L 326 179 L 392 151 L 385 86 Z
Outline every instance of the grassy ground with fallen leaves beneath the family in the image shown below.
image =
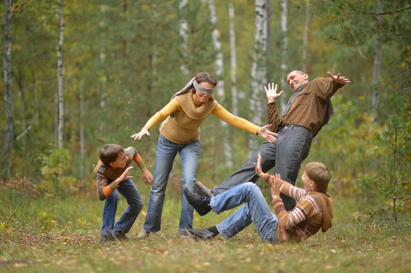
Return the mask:
M 339 200 L 332 229 L 299 244 L 260 242 L 252 225 L 228 241 L 194 242 L 179 236 L 179 196 L 170 195 L 160 233 L 137 238 L 146 204 L 129 241 L 100 244 L 103 202 L 97 197 L 3 194 L 0 272 L 411 272 L 410 213 L 399 213 L 395 224 L 390 212 L 360 213 L 354 201 Z M 117 217 L 126 205 L 121 198 Z M 194 226 L 214 225 L 231 213 L 195 213 Z

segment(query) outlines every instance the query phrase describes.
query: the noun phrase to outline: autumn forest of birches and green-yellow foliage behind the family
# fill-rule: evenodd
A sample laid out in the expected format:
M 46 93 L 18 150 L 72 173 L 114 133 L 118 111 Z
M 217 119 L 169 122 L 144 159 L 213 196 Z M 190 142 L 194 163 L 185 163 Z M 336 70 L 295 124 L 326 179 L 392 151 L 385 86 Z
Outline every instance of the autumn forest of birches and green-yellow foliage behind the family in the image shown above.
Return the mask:
M 284 90 L 284 109 L 290 70 L 351 79 L 303 164 L 328 166 L 329 192 L 355 203 L 356 220 L 388 211 L 411 224 L 410 1 L 5 0 L 0 14 L 2 234 L 16 229 L 7 209 L 16 194 L 29 203 L 97 200 L 92 170 L 105 144 L 134 146 L 153 171 L 158 127 L 139 141 L 129 135 L 200 71 L 219 80 L 221 105 L 260 126 L 264 86 Z M 208 118 L 197 180 L 219 185 L 260 142 Z M 176 206 L 180 174 L 177 157 L 167 193 Z

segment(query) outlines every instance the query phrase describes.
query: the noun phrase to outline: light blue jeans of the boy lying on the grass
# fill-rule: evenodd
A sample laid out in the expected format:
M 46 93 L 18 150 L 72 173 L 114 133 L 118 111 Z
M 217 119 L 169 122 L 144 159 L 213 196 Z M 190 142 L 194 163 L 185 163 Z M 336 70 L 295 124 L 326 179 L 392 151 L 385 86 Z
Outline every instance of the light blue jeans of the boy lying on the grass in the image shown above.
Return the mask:
M 233 187 L 211 198 L 210 205 L 212 211 L 219 214 L 238 207 L 242 203 L 247 204 L 216 225 L 221 235 L 225 239 L 234 237 L 253 222 L 262 241 L 277 242 L 277 217 L 271 213 L 269 205 L 256 184 L 247 182 Z

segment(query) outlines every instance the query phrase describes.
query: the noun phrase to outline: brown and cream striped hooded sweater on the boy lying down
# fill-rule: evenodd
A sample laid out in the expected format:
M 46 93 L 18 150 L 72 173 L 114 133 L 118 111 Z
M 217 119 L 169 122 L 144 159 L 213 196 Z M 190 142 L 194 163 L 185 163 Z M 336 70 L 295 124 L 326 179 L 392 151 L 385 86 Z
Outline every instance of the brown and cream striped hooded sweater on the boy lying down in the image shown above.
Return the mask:
M 266 174 L 264 181 L 269 181 L 270 177 L 270 174 Z M 325 232 L 332 226 L 334 200 L 331 195 L 306 192 L 285 181 L 283 183 L 282 194 L 298 202 L 292 211 L 286 211 L 281 198 L 273 199 L 275 214 L 278 218 L 278 242 L 299 242 L 301 239 L 314 235 L 320 229 Z

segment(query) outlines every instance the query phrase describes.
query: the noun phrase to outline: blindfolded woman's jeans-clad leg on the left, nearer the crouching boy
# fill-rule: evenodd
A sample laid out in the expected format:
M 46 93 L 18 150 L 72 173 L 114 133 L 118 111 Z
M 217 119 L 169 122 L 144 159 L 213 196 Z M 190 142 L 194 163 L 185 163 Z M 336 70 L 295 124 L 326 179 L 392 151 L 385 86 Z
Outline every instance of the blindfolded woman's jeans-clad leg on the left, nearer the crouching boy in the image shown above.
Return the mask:
M 157 153 L 155 155 L 154 184 L 150 191 L 149 207 L 147 209 L 145 224 L 142 227 L 147 232 L 157 232 L 161 229 L 164 194 L 177 151 L 177 144 L 160 135 Z

